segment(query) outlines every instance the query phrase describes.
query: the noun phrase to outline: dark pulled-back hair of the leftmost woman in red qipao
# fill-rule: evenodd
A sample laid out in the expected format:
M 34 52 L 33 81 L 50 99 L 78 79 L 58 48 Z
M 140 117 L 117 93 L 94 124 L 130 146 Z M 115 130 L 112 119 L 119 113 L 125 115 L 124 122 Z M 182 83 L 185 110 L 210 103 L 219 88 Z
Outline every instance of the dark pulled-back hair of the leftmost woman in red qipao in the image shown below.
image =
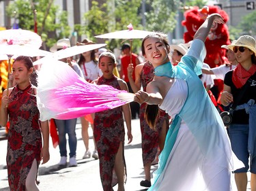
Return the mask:
M 23 61 L 27 70 L 29 70 L 31 68 L 33 69 L 33 72 L 31 73 L 31 75 L 29 77 L 29 81 L 31 82 L 31 84 L 33 84 L 33 86 L 38 86 L 38 71 L 36 71 L 35 67 L 33 67 L 33 61 L 31 59 L 31 57 L 29 57 L 29 56 L 18 56 L 17 58 L 15 58 L 14 63 L 16 61 Z

